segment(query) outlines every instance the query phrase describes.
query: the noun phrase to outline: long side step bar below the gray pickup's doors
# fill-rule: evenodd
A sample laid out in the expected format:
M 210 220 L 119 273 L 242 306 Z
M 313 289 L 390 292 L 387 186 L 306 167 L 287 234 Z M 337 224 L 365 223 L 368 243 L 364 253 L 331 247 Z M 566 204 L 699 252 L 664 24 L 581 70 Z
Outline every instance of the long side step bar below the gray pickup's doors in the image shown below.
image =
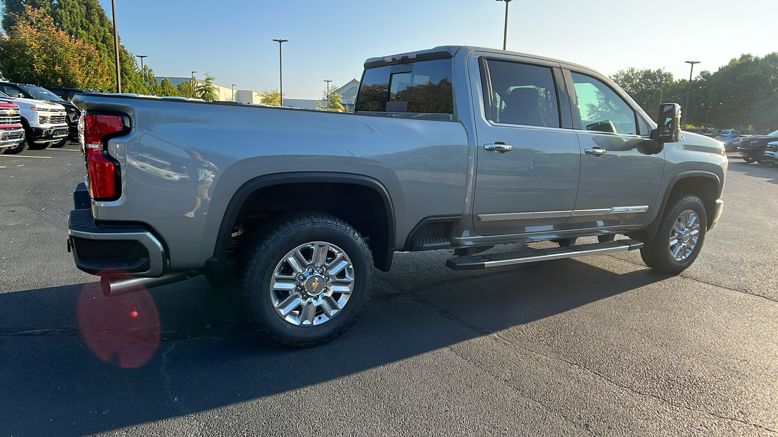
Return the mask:
M 533 263 L 535 261 L 560 260 L 562 258 L 582 257 L 594 253 L 622 252 L 643 247 L 636 239 L 619 239 L 608 243 L 579 244 L 576 246 L 549 247 L 547 249 L 529 249 L 518 252 L 491 253 L 488 255 L 468 255 L 453 257 L 446 266 L 454 270 L 480 270 L 486 267 L 499 267 L 511 264 Z

